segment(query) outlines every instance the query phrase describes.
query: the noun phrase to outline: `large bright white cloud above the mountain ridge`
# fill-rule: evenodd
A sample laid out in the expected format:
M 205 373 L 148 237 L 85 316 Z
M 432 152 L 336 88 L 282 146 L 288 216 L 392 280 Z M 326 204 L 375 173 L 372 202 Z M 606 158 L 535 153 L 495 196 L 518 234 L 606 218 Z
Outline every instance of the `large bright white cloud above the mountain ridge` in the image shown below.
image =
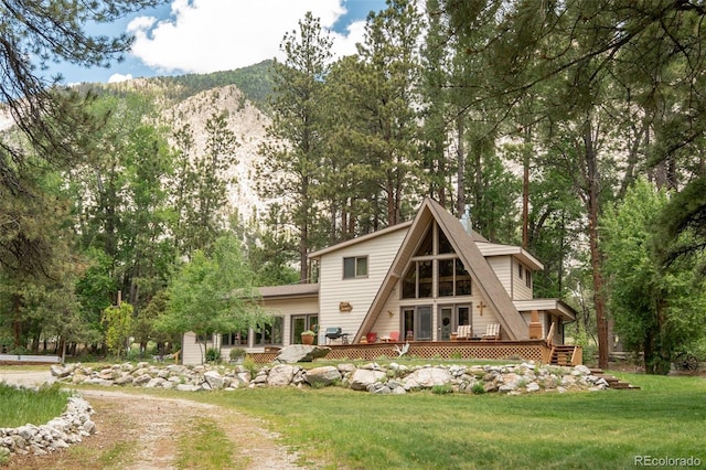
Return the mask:
M 208 73 L 281 57 L 279 44 L 307 11 L 330 29 L 345 13 L 341 0 L 173 0 L 171 17 L 139 17 L 128 25 L 132 54 L 162 72 Z M 364 22 L 333 33 L 336 56 L 355 52 Z

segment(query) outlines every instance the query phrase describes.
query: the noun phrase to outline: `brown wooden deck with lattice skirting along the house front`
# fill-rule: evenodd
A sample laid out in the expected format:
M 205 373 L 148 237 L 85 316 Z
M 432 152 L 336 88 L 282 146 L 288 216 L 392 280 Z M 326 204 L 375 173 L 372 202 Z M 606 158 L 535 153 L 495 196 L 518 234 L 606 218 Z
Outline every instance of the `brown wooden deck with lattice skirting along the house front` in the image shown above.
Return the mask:
M 327 360 L 355 361 L 386 357 L 394 359 L 405 343 L 324 344 L 331 348 Z M 397 348 L 397 349 L 396 349 Z M 277 352 L 248 354 L 256 363 L 266 364 L 277 357 Z M 406 356 L 421 359 L 489 359 L 524 360 L 548 363 L 552 346 L 545 340 L 527 341 L 410 341 Z

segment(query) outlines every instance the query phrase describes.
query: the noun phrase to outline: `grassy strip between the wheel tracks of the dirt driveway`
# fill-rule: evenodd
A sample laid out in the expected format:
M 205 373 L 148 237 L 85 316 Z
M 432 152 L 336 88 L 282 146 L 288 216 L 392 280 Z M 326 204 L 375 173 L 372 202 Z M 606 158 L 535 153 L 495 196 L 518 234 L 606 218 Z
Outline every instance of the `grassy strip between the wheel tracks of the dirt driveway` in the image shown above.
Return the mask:
M 179 439 L 174 462 L 178 469 L 246 468 L 245 461 L 238 461 L 233 467 L 231 442 L 212 419 L 195 418 L 184 428 L 186 431 Z

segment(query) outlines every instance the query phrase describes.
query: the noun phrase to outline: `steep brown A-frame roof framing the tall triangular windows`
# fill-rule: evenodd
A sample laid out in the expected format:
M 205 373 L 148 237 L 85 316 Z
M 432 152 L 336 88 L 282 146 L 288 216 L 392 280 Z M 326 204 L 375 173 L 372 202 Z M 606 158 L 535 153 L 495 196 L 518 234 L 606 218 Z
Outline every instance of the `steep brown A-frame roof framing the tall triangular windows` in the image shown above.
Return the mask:
M 493 273 L 485 260 L 485 257 L 475 245 L 477 242 L 486 243 L 488 241 L 475 232 L 471 232 L 471 234 L 467 233 L 453 215 L 439 203 L 427 197 L 421 203 L 421 207 L 417 212 L 354 341 L 359 341 L 363 332 L 368 331 L 375 323 L 377 316 L 389 298 L 394 287 L 404 276 L 404 269 L 416 253 L 429 224 L 435 220 L 459 255 L 466 270 L 471 275 L 474 288 L 480 289 L 489 307 L 496 312 L 498 321 L 503 327 L 507 337 L 512 340 L 526 339 L 528 333 L 527 324 L 513 305 L 512 299 L 500 282 L 500 279 L 498 279 L 495 273 Z

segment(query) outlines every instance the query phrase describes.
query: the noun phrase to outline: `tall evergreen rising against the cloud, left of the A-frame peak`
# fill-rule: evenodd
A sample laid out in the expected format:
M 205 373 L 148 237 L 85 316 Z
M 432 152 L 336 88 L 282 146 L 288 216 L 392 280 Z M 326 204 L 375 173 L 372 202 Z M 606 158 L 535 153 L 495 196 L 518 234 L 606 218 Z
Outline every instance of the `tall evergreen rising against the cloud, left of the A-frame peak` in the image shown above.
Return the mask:
M 285 62 L 272 65 L 272 122 L 267 129 L 272 140 L 259 150 L 265 157 L 258 170 L 259 190 L 266 196 L 282 197 L 289 223 L 297 231 L 302 282 L 310 280 L 309 252 L 320 245 L 312 226 L 318 217 L 315 186 L 321 182 L 327 138 L 322 94 L 331 44 L 311 12 L 299 22 L 298 31 L 285 34 L 280 46 Z

